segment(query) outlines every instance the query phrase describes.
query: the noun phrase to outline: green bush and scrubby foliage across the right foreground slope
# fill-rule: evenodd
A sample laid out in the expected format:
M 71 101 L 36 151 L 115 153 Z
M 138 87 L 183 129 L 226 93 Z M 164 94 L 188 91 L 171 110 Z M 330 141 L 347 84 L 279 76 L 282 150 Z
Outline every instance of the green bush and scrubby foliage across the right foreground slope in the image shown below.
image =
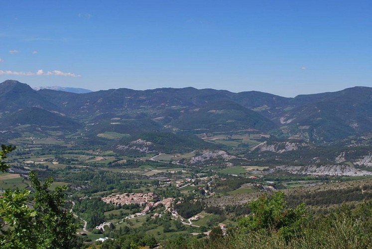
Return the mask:
M 165 244 L 165 248 L 175 249 L 367 249 L 372 246 L 372 201 L 359 204 L 356 208 L 343 205 L 330 211 L 328 215 L 315 216 L 304 220 L 302 206 L 290 210 L 282 209 L 283 194 L 272 198 L 261 197 L 249 204 L 255 206 L 253 217 L 243 218 L 240 225 L 227 231 L 220 238 L 202 240 L 176 240 Z M 258 212 L 258 213 L 257 213 Z M 281 214 L 280 214 L 281 213 Z M 281 219 L 283 216 L 296 219 Z M 302 214 L 302 215 L 299 215 Z M 276 219 L 275 217 L 279 217 Z M 265 222 L 263 222 L 265 220 Z M 281 220 L 281 221 L 280 221 Z M 280 222 L 279 222 L 280 221 Z M 305 222 L 307 221 L 307 222 Z M 287 224 L 287 225 L 284 225 Z M 286 229 L 283 234 L 283 228 Z M 296 229 L 294 229 L 296 228 Z M 290 235 L 288 237 L 288 235 Z

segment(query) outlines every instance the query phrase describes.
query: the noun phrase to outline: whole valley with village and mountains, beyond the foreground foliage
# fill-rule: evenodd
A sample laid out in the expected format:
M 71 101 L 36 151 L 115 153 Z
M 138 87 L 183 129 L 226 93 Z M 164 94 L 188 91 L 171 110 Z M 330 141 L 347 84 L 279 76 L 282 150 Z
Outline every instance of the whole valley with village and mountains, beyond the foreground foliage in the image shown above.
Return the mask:
M 372 199 L 371 96 L 359 87 L 296 98 L 194 88 L 75 94 L 5 81 L 0 143 L 17 149 L 0 192 L 29 188 L 30 171 L 52 177 L 51 190 L 67 185 L 84 247 L 226 234 L 251 214 L 248 202 L 279 191 L 291 208 L 304 202 L 326 214 Z

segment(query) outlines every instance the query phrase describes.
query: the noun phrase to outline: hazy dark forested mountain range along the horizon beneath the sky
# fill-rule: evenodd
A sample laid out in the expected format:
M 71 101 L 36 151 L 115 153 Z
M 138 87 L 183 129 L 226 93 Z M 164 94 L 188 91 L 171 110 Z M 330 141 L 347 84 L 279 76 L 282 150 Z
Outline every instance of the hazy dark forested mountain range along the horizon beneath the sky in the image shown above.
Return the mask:
M 1 137 L 22 132 L 86 137 L 148 132 L 211 137 L 260 134 L 314 144 L 360 140 L 372 131 L 372 88 L 285 98 L 256 91 L 160 88 L 71 93 L 34 90 L 15 80 L 0 83 Z M 258 139 L 259 140 L 259 139 Z

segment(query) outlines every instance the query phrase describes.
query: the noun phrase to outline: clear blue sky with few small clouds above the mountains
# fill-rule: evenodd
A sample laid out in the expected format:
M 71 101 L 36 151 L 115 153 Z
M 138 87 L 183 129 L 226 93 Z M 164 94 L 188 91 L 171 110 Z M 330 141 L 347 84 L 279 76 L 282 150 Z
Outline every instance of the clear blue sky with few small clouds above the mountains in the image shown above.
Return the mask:
M 0 82 L 295 97 L 372 87 L 371 0 L 0 0 Z

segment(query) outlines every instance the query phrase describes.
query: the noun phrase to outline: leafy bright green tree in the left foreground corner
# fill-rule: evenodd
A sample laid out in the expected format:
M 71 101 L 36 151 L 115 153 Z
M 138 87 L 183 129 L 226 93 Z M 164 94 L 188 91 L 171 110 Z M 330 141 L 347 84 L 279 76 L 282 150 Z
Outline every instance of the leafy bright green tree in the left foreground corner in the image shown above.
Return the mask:
M 1 149 L 0 170 L 3 172 L 9 166 L 2 159 L 15 147 L 1 145 Z M 72 214 L 63 208 L 66 186 L 50 191 L 52 178 L 44 184 L 41 184 L 36 172 L 30 172 L 29 178 L 35 190 L 31 201 L 29 190 L 7 189 L 0 198 L 0 248 L 78 247 L 79 243 L 75 240 L 78 225 L 74 224 Z

